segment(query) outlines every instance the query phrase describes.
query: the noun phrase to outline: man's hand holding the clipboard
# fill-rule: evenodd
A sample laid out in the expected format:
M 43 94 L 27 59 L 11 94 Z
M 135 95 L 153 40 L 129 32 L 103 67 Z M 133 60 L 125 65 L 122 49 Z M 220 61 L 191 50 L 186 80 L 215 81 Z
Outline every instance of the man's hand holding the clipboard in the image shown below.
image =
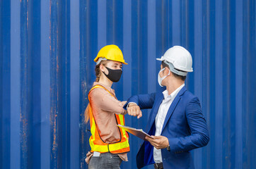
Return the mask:
M 153 139 L 151 139 L 148 136 L 146 136 L 145 139 L 148 140 L 152 146 L 156 147 L 156 149 L 165 149 L 168 147 L 169 141 L 167 137 L 164 137 L 164 136 L 151 136 L 151 137 L 153 137 Z

